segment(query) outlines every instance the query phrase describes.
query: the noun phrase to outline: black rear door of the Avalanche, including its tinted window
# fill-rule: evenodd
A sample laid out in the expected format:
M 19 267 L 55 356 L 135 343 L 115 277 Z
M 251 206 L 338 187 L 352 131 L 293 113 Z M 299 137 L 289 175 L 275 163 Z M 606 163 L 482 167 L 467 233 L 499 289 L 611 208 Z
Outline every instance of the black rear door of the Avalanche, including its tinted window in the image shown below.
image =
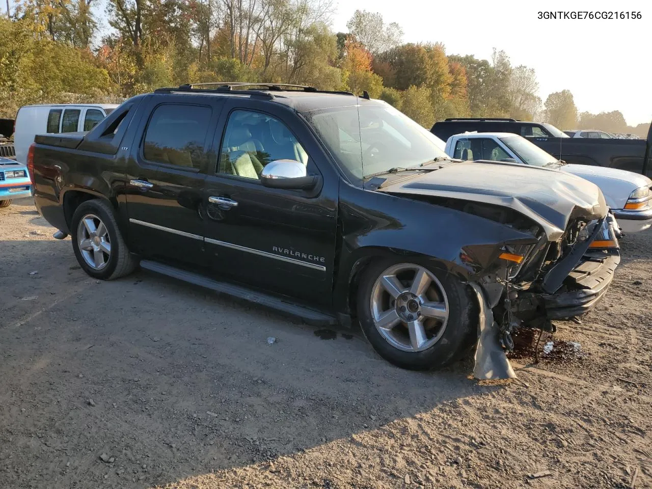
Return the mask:
M 130 241 L 142 256 L 205 265 L 201 192 L 220 105 L 209 96 L 149 100 L 126 178 Z

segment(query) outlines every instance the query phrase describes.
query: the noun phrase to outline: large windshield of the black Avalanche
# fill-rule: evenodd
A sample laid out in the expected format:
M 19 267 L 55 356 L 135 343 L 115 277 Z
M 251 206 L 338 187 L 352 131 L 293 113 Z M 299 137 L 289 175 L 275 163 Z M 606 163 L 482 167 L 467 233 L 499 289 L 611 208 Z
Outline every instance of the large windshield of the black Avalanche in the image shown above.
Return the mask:
M 419 166 L 435 158 L 449 159 L 444 141 L 379 100 L 302 115 L 354 180 L 393 168 Z

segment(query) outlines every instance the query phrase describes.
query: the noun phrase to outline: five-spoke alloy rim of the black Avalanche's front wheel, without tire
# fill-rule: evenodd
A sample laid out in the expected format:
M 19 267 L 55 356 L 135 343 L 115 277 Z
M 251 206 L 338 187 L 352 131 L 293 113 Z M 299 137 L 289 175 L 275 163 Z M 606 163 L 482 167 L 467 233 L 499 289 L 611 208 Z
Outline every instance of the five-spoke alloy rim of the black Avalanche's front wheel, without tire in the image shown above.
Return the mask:
M 413 263 L 398 263 L 378 277 L 370 307 L 378 332 L 402 351 L 423 351 L 436 344 L 449 317 L 441 282 Z

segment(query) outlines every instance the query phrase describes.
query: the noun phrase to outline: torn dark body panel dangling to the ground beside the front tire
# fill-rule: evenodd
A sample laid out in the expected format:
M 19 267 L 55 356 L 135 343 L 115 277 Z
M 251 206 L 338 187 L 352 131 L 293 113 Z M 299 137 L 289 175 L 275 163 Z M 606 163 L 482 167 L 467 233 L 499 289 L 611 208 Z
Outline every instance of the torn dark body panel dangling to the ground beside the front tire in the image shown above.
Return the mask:
M 471 284 L 478 298 L 479 332 L 475 351 L 473 376 L 481 380 L 512 379 L 516 377 L 500 342 L 500 329 L 494 313 L 477 284 Z

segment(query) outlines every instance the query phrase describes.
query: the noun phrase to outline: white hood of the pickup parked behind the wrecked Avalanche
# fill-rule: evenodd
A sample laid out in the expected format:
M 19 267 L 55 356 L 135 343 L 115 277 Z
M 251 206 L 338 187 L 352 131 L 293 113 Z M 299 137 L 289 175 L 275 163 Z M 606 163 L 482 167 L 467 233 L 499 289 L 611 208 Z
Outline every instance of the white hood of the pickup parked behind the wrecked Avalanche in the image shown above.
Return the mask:
M 600 187 L 612 209 L 623 209 L 630 194 L 642 186 L 652 186 L 652 180 L 633 171 L 593 165 L 563 165 L 559 170 L 572 173 Z

